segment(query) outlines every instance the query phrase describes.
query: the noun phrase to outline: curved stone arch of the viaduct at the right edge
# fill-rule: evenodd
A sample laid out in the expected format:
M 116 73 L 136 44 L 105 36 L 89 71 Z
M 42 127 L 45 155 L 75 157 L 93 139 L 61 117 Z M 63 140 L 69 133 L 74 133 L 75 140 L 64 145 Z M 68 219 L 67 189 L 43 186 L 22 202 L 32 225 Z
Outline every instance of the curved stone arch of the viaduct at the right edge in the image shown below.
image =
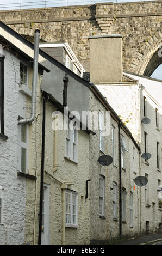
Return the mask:
M 130 67 L 139 75 L 151 76 L 153 71 L 162 63 L 158 55 L 162 44 L 162 34 L 158 32 L 146 40 L 142 48 L 136 52 Z

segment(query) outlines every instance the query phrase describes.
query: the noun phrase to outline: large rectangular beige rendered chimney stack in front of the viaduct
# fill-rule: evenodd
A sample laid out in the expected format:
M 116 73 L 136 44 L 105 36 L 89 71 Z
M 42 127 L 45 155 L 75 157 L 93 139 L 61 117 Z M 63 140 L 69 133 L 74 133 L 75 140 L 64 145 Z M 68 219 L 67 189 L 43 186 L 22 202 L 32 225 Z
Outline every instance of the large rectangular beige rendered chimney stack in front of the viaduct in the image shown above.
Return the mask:
M 122 35 L 88 37 L 90 41 L 90 81 L 97 83 L 122 81 Z

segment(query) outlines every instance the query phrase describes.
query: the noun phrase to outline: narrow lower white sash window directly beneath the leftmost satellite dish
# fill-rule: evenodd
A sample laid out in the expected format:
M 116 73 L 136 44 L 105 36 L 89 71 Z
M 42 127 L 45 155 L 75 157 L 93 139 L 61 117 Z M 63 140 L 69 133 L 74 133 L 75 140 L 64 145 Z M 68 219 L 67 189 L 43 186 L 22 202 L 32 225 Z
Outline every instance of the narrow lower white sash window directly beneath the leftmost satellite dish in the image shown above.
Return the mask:
M 105 178 L 99 175 L 99 216 L 105 217 Z

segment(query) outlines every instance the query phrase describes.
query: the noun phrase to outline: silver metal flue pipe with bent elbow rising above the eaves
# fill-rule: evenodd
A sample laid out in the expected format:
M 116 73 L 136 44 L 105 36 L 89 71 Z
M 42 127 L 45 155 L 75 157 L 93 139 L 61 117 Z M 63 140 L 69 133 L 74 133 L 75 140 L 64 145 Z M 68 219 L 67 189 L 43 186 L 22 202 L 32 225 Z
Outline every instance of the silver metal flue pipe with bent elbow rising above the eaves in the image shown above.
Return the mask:
M 38 77 L 39 36 L 40 36 L 40 30 L 35 29 L 31 114 L 29 118 L 18 120 L 18 124 L 30 124 L 34 121 L 35 115 L 36 115 L 36 89 L 37 89 L 37 77 Z

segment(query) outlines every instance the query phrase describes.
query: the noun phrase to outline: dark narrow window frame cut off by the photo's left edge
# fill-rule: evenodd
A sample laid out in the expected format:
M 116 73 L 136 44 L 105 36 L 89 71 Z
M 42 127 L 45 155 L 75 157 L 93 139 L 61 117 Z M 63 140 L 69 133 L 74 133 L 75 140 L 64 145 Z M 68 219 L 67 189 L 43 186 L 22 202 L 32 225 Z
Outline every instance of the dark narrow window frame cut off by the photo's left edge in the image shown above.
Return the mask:
M 0 57 L 0 133 L 4 135 L 4 57 Z

